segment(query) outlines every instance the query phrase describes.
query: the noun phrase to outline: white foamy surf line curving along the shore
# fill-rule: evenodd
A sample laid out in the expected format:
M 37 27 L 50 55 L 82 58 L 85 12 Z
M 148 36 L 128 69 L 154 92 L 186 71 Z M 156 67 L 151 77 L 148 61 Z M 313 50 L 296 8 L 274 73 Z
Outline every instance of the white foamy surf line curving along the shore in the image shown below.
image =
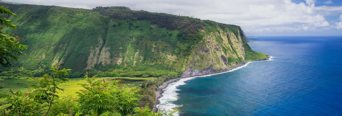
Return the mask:
M 266 60 L 266 61 L 273 61 L 272 58 L 273 58 L 272 56 L 269 56 L 269 59 Z M 160 103 L 156 107 L 158 108 L 158 110 L 165 109 L 164 112 L 166 112 L 166 113 L 168 113 L 168 110 L 172 110 L 172 109 L 174 109 L 176 107 L 181 107 L 182 105 L 176 105 L 176 104 L 173 104 L 173 103 L 170 103 L 170 102 L 174 102 L 174 101 L 176 101 L 178 99 L 177 96 L 179 94 L 177 93 L 177 91 L 179 91 L 180 89 L 178 89 L 177 87 L 179 85 L 185 85 L 186 84 L 185 81 L 192 80 L 192 79 L 195 79 L 197 77 L 208 77 L 208 76 L 212 76 L 212 75 L 215 75 L 215 74 L 222 74 L 222 73 L 232 72 L 232 71 L 241 69 L 243 67 L 246 67 L 251 62 L 262 62 L 262 61 L 250 61 L 250 62 L 247 62 L 246 64 L 244 64 L 244 65 L 242 65 L 240 67 L 237 67 L 237 68 L 234 68 L 232 70 L 225 71 L 225 72 L 208 74 L 208 75 L 203 75 L 203 76 L 188 77 L 188 78 L 183 78 L 183 79 L 180 79 L 179 81 L 170 83 L 165 89 L 162 89 L 164 93 L 158 99 Z M 174 116 L 179 116 L 178 112 L 176 114 L 174 114 Z

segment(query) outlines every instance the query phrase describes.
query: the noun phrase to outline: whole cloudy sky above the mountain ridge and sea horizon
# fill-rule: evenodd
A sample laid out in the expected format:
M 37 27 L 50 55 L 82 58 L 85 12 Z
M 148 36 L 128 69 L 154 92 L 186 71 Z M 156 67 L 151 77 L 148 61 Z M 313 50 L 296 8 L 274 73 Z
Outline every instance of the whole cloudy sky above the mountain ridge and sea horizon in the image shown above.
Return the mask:
M 4 0 L 25 4 L 132 10 L 235 24 L 247 36 L 342 35 L 342 0 Z

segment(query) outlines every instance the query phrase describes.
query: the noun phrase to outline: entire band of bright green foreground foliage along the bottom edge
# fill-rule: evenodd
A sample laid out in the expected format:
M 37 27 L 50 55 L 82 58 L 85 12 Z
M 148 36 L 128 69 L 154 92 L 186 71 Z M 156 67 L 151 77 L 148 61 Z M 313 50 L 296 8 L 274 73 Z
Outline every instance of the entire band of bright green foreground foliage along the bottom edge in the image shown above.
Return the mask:
M 60 84 L 66 83 L 67 75 L 71 69 L 60 69 L 59 65 L 51 67 L 51 74 L 44 74 L 41 78 L 28 78 L 36 84 L 30 85 L 27 93 L 21 91 L 10 94 L 1 94 L 1 107 L 5 107 L 5 116 L 26 116 L 26 115 L 51 115 L 51 116 L 121 116 L 121 115 L 138 115 L 138 116 L 162 116 L 170 115 L 177 110 L 170 111 L 169 114 L 164 111 L 152 112 L 146 107 L 135 107 L 138 101 L 143 97 L 139 95 L 140 87 L 128 87 L 119 84 L 121 79 L 106 81 L 104 79 L 97 80 L 97 76 L 84 76 L 86 83 L 80 84 L 82 89 L 78 97 L 64 97 L 57 95 L 58 92 L 64 91 Z

